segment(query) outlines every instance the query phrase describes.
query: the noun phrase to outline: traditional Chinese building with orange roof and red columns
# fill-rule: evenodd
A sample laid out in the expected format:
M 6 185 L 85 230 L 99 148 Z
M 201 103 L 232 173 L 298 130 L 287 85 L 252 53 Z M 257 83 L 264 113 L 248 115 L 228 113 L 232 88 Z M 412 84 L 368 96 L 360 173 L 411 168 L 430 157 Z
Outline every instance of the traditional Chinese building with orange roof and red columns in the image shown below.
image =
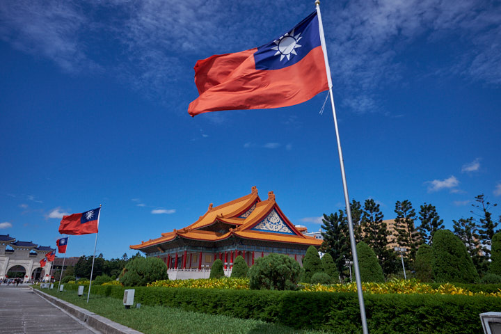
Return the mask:
M 171 279 L 205 278 L 216 259 L 223 261 L 229 274 L 238 255 L 249 267 L 256 257 L 270 253 L 285 254 L 301 264 L 306 249 L 319 247 L 322 242 L 306 237 L 305 231 L 289 221 L 273 191 L 267 200 L 261 200 L 253 186 L 244 197 L 217 207 L 211 203 L 195 223 L 130 248 L 164 260 Z

